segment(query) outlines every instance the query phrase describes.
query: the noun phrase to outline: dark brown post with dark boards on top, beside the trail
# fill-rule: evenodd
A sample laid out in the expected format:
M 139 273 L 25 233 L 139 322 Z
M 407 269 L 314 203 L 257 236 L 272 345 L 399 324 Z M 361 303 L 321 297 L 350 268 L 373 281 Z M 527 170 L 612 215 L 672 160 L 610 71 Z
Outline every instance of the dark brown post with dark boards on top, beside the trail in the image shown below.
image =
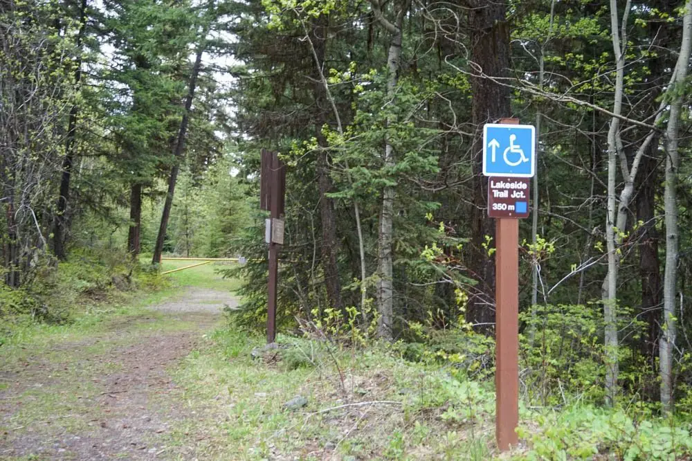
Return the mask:
M 260 169 L 260 208 L 268 210 L 269 277 L 267 283 L 266 342 L 276 339 L 276 301 L 279 277 L 279 250 L 284 242 L 284 197 L 286 194 L 286 167 L 276 152 L 262 150 Z

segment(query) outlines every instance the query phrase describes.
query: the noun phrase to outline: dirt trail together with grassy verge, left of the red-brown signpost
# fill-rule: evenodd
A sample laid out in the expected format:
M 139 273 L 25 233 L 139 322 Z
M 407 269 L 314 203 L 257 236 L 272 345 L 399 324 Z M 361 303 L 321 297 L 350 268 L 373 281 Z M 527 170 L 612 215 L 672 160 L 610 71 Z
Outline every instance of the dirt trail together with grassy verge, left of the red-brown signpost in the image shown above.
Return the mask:
M 211 265 L 170 277 L 175 289 L 0 347 L 0 460 L 493 457 L 490 395 L 453 431 L 435 397 L 444 370 L 292 336 L 263 351 L 222 313 L 237 281 Z

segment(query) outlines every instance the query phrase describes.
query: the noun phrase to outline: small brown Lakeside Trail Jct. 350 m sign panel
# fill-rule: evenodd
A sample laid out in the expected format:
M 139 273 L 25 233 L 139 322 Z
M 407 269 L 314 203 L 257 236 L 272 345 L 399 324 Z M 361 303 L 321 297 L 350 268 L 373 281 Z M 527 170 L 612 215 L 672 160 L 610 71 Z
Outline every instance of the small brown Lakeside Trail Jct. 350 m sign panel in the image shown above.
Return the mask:
M 529 217 L 530 178 L 488 178 L 488 216 L 495 218 Z

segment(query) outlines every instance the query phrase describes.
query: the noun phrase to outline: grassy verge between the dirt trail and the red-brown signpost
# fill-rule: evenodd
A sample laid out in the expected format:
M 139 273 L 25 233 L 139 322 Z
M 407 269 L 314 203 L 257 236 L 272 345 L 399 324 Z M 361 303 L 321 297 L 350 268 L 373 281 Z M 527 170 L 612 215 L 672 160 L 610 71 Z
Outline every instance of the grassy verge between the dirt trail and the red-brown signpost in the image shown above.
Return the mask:
M 430 401 L 440 370 L 407 363 L 383 345 L 356 351 L 286 336 L 280 342 L 285 350 L 256 360 L 251 351 L 263 338 L 229 327 L 190 354 L 172 372 L 186 413 L 197 413 L 176 426 L 171 443 L 201 438 L 194 455 L 206 460 L 492 457 L 484 419 L 445 420 Z M 284 408 L 296 396 L 307 405 Z

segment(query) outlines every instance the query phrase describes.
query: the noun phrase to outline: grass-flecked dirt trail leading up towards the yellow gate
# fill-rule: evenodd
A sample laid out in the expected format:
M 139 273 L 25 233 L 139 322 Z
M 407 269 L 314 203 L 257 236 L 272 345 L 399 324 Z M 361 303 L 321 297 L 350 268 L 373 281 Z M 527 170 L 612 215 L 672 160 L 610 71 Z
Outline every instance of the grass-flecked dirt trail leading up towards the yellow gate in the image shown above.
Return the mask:
M 230 293 L 190 287 L 115 320 L 106 332 L 37 350 L 0 370 L 0 459 L 188 458 L 170 426 L 185 410 L 167 370 L 237 306 Z M 161 315 L 163 314 L 163 315 Z

